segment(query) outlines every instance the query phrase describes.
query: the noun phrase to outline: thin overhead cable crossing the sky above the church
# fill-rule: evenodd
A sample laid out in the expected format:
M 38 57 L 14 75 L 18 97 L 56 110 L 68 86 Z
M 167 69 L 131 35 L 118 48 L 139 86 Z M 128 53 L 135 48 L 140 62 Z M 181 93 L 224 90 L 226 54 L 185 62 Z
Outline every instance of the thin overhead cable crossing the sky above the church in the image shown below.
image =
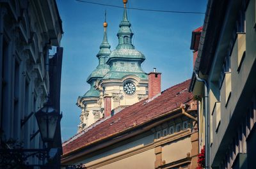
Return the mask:
M 97 4 L 97 5 L 101 5 L 101 6 L 111 6 L 111 7 L 115 7 L 115 8 L 124 8 L 124 6 L 116 6 L 116 5 L 112 5 L 112 4 L 93 3 L 93 2 L 90 2 L 90 1 L 83 1 L 83 0 L 75 0 L 75 1 L 78 1 L 80 3 Z M 140 11 L 156 11 L 156 12 L 188 13 L 188 14 L 205 14 L 204 12 L 198 12 L 198 11 L 168 11 L 168 10 L 150 10 L 150 9 L 130 8 L 130 7 L 126 7 L 126 8 L 130 9 L 130 10 L 140 10 Z

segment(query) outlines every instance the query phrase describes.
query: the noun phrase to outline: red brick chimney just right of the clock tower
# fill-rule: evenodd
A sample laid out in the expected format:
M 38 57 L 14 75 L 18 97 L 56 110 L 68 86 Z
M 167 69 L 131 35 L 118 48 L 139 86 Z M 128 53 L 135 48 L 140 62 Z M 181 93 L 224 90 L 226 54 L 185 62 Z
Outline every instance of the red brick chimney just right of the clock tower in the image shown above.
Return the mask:
M 148 73 L 148 99 L 161 92 L 161 74 L 156 72 L 156 68 L 153 72 Z

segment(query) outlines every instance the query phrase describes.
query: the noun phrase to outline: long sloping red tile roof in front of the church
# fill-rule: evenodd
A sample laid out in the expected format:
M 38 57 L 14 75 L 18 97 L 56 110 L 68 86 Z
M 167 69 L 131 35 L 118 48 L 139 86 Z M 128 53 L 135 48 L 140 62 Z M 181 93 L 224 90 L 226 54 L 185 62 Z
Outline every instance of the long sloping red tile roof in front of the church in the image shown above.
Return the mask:
M 139 124 L 151 121 L 179 108 L 182 103 L 192 101 L 193 95 L 188 92 L 189 83 L 190 79 L 181 84 L 174 85 L 163 91 L 157 98 L 149 102 L 147 102 L 147 99 L 144 99 L 135 103 L 118 114 L 113 115 L 113 117 L 97 124 L 97 126 L 94 126 L 85 133 L 76 135 L 77 138 L 63 143 L 63 155 L 81 147 L 86 147 L 86 145 L 90 145 L 92 142 L 116 135 L 121 131 L 135 128 Z

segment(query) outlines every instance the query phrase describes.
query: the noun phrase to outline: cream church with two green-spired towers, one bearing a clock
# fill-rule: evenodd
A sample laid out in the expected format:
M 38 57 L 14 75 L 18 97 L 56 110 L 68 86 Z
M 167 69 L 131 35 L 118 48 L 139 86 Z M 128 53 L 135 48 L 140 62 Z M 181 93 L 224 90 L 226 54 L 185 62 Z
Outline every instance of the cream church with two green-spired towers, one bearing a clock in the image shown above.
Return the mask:
M 148 76 L 141 68 L 145 56 L 132 45 L 131 23 L 127 19 L 127 1 L 119 24 L 118 45 L 110 51 L 104 22 L 104 37 L 97 54 L 99 65 L 87 78 L 90 90 L 77 99 L 82 109 L 78 132 L 101 118 L 147 98 Z

